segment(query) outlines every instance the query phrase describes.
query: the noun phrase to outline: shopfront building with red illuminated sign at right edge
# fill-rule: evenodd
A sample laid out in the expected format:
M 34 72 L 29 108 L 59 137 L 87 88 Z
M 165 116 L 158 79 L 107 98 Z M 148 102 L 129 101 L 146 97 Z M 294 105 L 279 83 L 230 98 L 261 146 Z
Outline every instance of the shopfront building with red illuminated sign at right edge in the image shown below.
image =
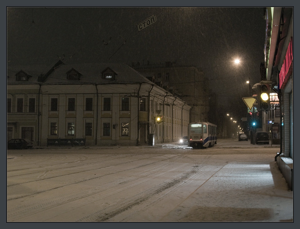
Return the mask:
M 271 138 L 279 139 L 280 152 L 275 157 L 289 188 L 293 187 L 293 8 L 265 9 L 265 79 L 270 82 L 271 102 L 278 123 L 268 123 Z M 268 121 L 269 117 L 266 118 Z

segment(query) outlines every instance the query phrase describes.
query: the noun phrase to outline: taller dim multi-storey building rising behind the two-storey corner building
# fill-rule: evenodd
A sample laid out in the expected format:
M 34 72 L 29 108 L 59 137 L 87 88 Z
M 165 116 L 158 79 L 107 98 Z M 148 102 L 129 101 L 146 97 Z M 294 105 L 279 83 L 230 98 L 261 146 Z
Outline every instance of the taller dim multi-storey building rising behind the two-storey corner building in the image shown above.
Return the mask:
M 204 73 L 194 66 L 179 66 L 176 63 L 164 64 L 132 63 L 132 67 L 142 74 L 148 74 L 158 85 L 172 91 L 191 106 L 189 122 L 208 121 L 211 97 Z

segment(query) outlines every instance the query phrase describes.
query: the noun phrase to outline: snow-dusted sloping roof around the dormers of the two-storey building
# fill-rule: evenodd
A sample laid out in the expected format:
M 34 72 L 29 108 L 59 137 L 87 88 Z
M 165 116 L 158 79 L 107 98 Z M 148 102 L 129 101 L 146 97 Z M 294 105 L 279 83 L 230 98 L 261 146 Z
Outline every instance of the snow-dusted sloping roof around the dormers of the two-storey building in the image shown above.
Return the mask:
M 150 83 L 143 74 L 137 72 L 125 63 L 81 63 L 66 64 L 56 62 L 52 66 L 31 65 L 31 66 L 9 66 L 7 67 L 7 84 L 96 84 L 96 83 Z M 54 67 L 55 66 L 55 67 Z M 53 70 L 54 67 L 54 70 Z M 67 79 L 67 72 L 71 69 L 80 74 L 79 80 Z M 51 71 L 51 69 L 53 71 Z M 111 69 L 115 78 L 102 78 L 104 70 Z M 26 72 L 29 77 L 28 81 L 17 81 L 16 74 L 20 71 Z M 47 77 L 47 73 L 49 74 Z M 44 82 L 39 82 L 38 78 L 44 77 Z

